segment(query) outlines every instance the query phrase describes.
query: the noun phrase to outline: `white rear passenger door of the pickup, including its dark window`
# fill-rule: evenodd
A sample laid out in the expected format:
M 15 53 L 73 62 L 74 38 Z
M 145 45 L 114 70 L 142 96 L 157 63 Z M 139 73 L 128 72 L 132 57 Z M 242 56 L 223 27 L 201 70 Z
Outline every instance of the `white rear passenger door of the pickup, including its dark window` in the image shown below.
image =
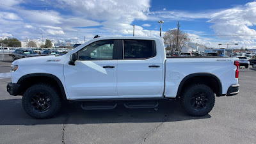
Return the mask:
M 154 40 L 122 40 L 117 92 L 126 97 L 162 97 L 163 62 Z M 157 54 L 159 53 L 159 54 Z

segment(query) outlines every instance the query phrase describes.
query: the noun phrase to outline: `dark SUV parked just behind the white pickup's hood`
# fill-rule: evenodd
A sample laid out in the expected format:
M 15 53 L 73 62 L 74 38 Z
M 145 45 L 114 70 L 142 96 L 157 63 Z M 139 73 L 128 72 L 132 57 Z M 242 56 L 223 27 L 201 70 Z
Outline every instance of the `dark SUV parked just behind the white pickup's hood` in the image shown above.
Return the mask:
M 27 57 L 33 57 L 33 56 L 40 56 L 40 54 L 36 54 L 35 51 L 31 51 L 31 50 L 17 49 L 12 53 L 12 60 L 14 61 L 19 58 L 27 58 Z

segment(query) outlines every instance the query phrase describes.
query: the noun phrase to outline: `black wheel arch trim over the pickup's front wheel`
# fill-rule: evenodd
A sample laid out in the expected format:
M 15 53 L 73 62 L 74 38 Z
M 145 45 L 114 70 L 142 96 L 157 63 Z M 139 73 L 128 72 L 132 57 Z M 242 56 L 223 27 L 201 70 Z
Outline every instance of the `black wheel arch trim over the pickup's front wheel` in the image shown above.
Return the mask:
M 36 83 L 51 83 L 60 92 L 61 99 L 67 100 L 65 89 L 60 79 L 57 76 L 47 73 L 27 74 L 20 77 L 20 79 L 17 81 L 17 84 L 20 84 L 19 95 L 23 95 L 26 89 L 28 89 L 30 86 Z

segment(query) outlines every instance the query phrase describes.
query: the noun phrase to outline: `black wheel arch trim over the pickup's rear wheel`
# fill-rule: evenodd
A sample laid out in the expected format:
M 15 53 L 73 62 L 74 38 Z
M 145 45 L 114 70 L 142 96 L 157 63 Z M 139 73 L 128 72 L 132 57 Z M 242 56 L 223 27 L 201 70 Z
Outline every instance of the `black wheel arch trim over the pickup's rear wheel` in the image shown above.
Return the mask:
M 204 83 L 209 86 L 217 96 L 222 95 L 222 84 L 220 79 L 211 73 L 194 73 L 184 77 L 179 84 L 177 97 L 180 96 L 182 90 L 189 86 L 191 83 Z

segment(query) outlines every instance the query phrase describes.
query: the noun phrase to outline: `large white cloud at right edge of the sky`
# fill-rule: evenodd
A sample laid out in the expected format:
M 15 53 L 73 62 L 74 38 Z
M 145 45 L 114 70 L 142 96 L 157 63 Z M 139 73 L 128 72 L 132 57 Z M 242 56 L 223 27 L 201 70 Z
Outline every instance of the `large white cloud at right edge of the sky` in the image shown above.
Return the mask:
M 214 23 L 211 28 L 220 38 L 230 39 L 232 42 L 253 43 L 256 31 L 250 26 L 256 24 L 256 2 L 247 3 L 244 6 L 222 10 L 213 13 L 211 20 Z

